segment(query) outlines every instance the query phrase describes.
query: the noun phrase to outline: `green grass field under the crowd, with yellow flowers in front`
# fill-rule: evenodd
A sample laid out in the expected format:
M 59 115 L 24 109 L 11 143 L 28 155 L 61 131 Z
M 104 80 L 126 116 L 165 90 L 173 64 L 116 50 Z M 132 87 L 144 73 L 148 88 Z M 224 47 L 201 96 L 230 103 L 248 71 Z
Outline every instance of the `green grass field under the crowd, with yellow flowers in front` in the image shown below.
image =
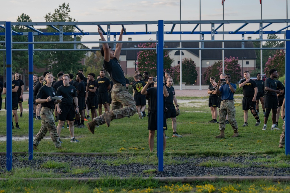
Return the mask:
M 208 123 L 211 118 L 207 97 L 184 97 L 177 98 L 180 105 L 181 115 L 177 117 L 177 132 L 182 138 L 173 138 L 171 120 L 168 120 L 166 135 L 170 136 L 166 141 L 164 164 L 179 164 L 172 157 L 182 156 L 240 156 L 240 155 L 269 155 L 270 159 L 258 160 L 267 162 L 269 167 L 289 167 L 289 156 L 283 155 L 284 149 L 278 148 L 280 134 L 278 130 L 262 131 L 262 123 L 254 127 L 255 119 L 249 114 L 249 126 L 240 127 L 243 124 L 242 98 L 235 96 L 236 120 L 239 126 L 240 136 L 232 138 L 233 130 L 226 125 L 225 139 L 215 139 L 218 135 L 219 125 Z M 23 102 L 27 108 L 27 102 Z M 4 109 L 4 104 L 2 104 Z M 146 109 L 147 112 L 147 109 Z M 20 113 L 19 113 L 20 114 Z M 270 114 L 271 116 L 271 114 Z M 14 121 L 14 120 L 13 120 Z M 6 112 L 0 111 L 0 136 L 6 136 Z M 263 116 L 261 117 L 263 122 Z M 57 123 L 56 123 L 57 124 Z M 34 136 L 37 134 L 41 121 L 34 120 Z M 118 159 L 107 161 L 108 165 L 122 165 L 130 163 L 153 163 L 158 164 L 155 154 L 150 153 L 148 146 L 148 118 L 139 120 L 137 115 L 131 118 L 113 120 L 108 128 L 102 125 L 96 128 L 92 135 L 87 128 L 75 128 L 75 137 L 80 143 L 70 143 L 68 129 L 62 129 L 60 138 L 66 148 L 63 152 L 104 152 L 118 155 Z M 270 128 L 271 120 L 268 121 Z M 13 137 L 28 136 L 28 113 L 24 111 L 23 117 L 19 117 L 20 130 L 12 130 Z M 282 128 L 282 120 L 279 121 Z M 48 135 L 47 135 L 48 136 Z M 156 153 L 155 136 L 155 153 Z M 13 152 L 28 152 L 28 139 L 13 141 Z M 43 139 L 36 152 L 59 152 L 54 147 L 51 139 Z M 6 152 L 6 142 L 0 141 L 0 152 Z M 126 156 L 128 159 L 122 159 Z M 27 158 L 28 159 L 28 158 Z M 35 156 L 37 159 L 37 156 Z M 286 163 L 287 162 L 287 163 Z M 24 177 L 60 177 L 49 171 L 49 168 L 64 167 L 65 163 L 46 163 L 44 167 L 48 172 L 40 173 L 29 168 L 13 168 L 12 172 L 0 174 L 2 178 L 9 180 L 0 181 L 0 192 L 289 192 L 288 183 L 274 183 L 270 181 L 255 182 L 194 182 L 190 184 L 164 183 L 153 179 L 114 179 L 104 177 L 98 181 L 70 181 L 70 180 L 35 180 L 26 181 Z M 218 167 L 216 161 L 207 161 L 200 166 Z M 228 163 L 229 167 L 249 167 L 241 164 Z M 86 172 L 89 168 L 75 168 L 72 173 Z M 151 173 L 154 171 L 144 171 Z

